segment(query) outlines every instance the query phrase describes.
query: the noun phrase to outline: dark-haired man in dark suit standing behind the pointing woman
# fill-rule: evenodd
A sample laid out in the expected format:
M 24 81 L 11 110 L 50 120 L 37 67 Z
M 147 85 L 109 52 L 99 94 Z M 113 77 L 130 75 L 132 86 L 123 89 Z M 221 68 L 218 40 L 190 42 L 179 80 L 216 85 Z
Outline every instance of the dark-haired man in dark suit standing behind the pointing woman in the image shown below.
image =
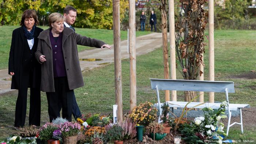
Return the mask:
M 64 27 L 69 27 L 70 29 L 75 31 L 75 28 L 72 27 L 71 25 L 74 24 L 74 22 L 76 21 L 76 9 L 68 5 L 67 7 L 65 7 L 63 15 L 65 17 Z M 61 106 L 59 108 L 61 109 Z M 79 117 L 82 117 L 82 113 L 76 102 L 75 93 L 73 94 L 72 114 L 75 120 Z

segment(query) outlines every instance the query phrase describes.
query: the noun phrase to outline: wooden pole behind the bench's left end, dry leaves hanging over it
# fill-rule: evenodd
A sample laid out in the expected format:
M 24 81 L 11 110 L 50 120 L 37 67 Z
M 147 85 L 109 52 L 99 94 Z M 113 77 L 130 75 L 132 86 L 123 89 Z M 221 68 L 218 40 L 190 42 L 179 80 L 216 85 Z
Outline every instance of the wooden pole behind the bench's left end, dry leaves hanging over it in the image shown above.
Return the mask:
M 164 67 L 164 77 L 169 79 L 169 62 L 168 62 L 168 46 L 167 46 L 167 14 L 165 12 L 166 0 L 163 0 L 162 9 L 162 39 L 163 39 L 163 67 Z M 165 101 L 170 101 L 170 91 L 165 90 Z

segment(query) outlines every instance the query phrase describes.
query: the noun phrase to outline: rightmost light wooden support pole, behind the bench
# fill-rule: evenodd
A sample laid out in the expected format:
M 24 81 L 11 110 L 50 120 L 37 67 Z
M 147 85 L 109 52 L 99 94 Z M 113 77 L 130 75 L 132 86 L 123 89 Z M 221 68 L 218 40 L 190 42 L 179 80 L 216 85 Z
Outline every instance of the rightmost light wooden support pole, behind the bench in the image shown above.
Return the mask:
M 214 81 L 214 0 L 209 0 L 209 80 Z M 209 92 L 209 102 L 214 102 L 214 92 Z

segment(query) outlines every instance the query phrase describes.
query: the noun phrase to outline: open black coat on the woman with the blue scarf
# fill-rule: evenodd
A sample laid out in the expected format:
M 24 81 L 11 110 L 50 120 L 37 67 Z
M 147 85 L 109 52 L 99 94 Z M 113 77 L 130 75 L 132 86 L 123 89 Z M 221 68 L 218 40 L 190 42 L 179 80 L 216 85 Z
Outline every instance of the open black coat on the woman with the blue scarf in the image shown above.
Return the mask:
M 43 31 L 43 29 L 35 27 L 34 45 L 31 51 L 29 49 L 27 39 L 24 36 L 23 27 L 21 26 L 12 31 L 12 42 L 8 66 L 8 74 L 10 74 L 10 72 L 14 72 L 14 75 L 12 76 L 11 89 L 19 89 L 24 79 L 24 77 L 22 76 L 22 71 L 25 71 L 27 67 L 33 68 L 33 80 L 32 86 L 30 87 L 40 87 L 41 64 L 39 64 L 39 62 L 35 60 L 34 53 L 37 50 L 37 37 L 41 33 L 41 31 Z M 24 53 L 26 52 L 29 53 L 24 55 Z M 30 57 L 30 62 L 27 62 L 27 58 L 29 58 L 29 56 L 32 56 L 33 58 Z

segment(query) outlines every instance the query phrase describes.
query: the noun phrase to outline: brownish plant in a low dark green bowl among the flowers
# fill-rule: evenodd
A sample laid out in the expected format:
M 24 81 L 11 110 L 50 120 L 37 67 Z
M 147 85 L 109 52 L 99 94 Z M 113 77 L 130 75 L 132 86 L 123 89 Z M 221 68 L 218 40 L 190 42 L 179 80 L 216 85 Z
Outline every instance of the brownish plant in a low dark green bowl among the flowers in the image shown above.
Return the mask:
M 161 140 L 166 136 L 166 133 L 163 132 L 163 124 L 157 122 L 151 122 L 146 127 L 146 132 L 150 133 L 150 137 L 155 140 Z

